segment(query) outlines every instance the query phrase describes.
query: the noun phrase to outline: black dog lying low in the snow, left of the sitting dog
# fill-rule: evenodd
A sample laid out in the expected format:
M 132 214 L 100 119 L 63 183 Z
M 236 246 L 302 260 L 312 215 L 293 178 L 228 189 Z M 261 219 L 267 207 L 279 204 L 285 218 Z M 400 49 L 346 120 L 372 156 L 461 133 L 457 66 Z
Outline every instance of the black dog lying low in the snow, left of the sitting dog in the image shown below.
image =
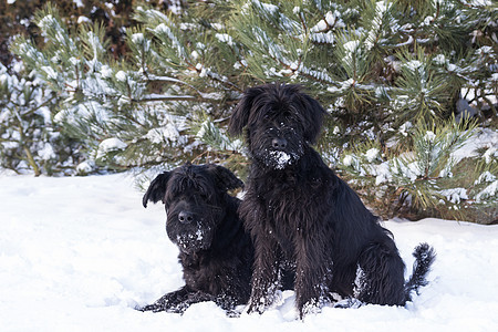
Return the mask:
M 247 303 L 253 247 L 237 216 L 240 200 L 227 194 L 242 185 L 225 167 L 190 164 L 151 183 L 144 207 L 164 203 L 166 232 L 180 250 L 186 284 L 141 310 L 181 313 L 193 303 L 214 301 L 231 311 Z

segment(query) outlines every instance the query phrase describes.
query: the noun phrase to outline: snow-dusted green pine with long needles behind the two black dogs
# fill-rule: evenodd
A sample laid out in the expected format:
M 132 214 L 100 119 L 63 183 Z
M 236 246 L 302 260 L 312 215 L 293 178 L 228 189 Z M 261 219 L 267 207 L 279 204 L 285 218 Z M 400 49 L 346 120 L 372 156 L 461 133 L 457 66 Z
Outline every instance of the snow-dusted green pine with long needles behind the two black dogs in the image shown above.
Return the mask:
M 497 135 L 491 1 L 215 0 L 178 13 L 141 4 L 134 19 L 117 61 L 103 27 L 69 30 L 51 7 L 37 15 L 46 45 L 15 43 L 95 165 L 241 169 L 226 135 L 238 96 L 299 83 L 330 114 L 317 148 L 380 215 L 497 218 L 496 147 L 476 144 Z

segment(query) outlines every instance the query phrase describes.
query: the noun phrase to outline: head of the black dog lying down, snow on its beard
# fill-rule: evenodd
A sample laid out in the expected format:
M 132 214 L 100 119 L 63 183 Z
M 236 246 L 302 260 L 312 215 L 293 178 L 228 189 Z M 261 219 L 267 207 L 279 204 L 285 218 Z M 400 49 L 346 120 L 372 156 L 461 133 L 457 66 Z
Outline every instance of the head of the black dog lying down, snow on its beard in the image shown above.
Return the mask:
M 143 205 L 163 201 L 169 239 L 190 255 L 211 247 L 226 215 L 227 190 L 242 186 L 225 167 L 187 164 L 158 175 L 145 193 Z

